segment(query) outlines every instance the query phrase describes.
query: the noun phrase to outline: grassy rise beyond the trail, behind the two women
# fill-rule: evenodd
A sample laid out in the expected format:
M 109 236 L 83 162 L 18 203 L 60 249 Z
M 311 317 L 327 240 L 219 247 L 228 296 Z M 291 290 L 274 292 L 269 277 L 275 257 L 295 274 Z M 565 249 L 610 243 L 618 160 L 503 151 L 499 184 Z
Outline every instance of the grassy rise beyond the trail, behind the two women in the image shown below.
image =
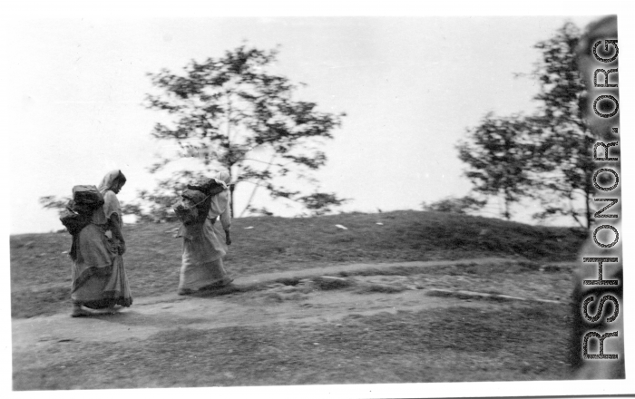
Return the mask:
M 176 223 L 125 226 L 124 262 L 134 297 L 176 289 L 181 266 L 181 239 L 173 238 L 176 228 Z M 485 257 L 567 261 L 575 259 L 586 236 L 579 229 L 414 210 L 310 219 L 244 218 L 233 221 L 226 266 L 240 276 L 352 262 Z M 10 245 L 12 315 L 69 307 L 70 235 L 17 235 Z

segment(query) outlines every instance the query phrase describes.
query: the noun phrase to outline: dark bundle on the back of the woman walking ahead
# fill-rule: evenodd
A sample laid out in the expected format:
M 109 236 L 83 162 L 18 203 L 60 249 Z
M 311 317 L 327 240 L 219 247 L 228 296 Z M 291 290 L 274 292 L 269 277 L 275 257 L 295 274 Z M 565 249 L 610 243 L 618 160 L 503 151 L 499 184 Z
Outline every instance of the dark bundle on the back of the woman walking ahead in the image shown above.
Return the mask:
M 183 224 L 190 225 L 205 220 L 210 210 L 210 198 L 226 189 L 215 179 L 203 179 L 187 185 L 181 199 L 174 206 L 174 213 Z

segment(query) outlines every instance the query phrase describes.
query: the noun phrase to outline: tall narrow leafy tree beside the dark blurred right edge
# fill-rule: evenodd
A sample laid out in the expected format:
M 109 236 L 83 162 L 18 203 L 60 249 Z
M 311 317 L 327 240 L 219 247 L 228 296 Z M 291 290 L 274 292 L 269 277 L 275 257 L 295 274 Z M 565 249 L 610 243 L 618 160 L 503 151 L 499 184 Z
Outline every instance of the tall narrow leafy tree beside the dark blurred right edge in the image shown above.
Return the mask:
M 535 45 L 542 52 L 533 71 L 540 83 L 534 97 L 540 108 L 534 120 L 542 129 L 542 147 L 532 169 L 543 172 L 534 187 L 544 210 L 534 217 L 571 216 L 589 228 L 595 138 L 580 106 L 585 93 L 575 55 L 580 38 L 574 24 L 564 24 L 550 39 Z

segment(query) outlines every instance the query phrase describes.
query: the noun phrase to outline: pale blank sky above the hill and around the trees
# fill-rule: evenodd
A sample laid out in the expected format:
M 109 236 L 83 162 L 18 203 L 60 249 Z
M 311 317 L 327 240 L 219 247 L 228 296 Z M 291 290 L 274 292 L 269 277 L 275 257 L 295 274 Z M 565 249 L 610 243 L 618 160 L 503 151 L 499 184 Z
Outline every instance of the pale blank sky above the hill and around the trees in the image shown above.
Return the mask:
M 128 178 L 119 198 L 151 189 L 148 167 L 169 143 L 151 137 L 161 112 L 142 102 L 146 73 L 179 72 L 245 41 L 280 46 L 272 73 L 308 86 L 298 100 L 346 112 L 322 150 L 320 190 L 349 199 L 338 210 L 421 209 L 471 188 L 455 145 L 486 112 L 531 112 L 533 48 L 573 16 L 75 17 L 25 19 L 6 58 L 9 92 L 10 233 L 62 229 L 46 195 L 97 185 L 112 169 Z M 6 121 L 5 121 L 6 122 Z M 5 138 L 6 140 L 6 138 Z M 313 190 L 299 183 L 301 190 Z M 250 188 L 239 186 L 236 213 Z M 255 205 L 280 216 L 297 209 Z M 495 202 L 489 211 L 496 216 Z M 530 207 L 531 210 L 531 207 Z M 518 209 L 516 219 L 531 221 Z M 24 218 L 21 215 L 28 215 Z

